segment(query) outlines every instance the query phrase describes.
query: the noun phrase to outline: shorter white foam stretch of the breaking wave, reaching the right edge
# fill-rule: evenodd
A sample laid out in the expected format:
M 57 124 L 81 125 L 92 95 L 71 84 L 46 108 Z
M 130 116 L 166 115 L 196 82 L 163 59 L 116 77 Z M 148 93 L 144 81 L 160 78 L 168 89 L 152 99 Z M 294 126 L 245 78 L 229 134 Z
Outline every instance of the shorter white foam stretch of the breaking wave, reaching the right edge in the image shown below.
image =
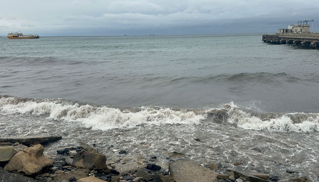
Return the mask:
M 233 102 L 225 106 L 227 108 L 228 122 L 235 123 L 239 127 L 249 130 L 267 130 L 267 131 L 294 131 L 294 132 L 312 132 L 319 131 L 319 114 L 318 113 L 288 113 L 279 118 L 261 120 L 256 116 L 251 116 L 239 109 Z M 305 119 L 300 123 L 294 123 L 291 115 L 304 115 Z

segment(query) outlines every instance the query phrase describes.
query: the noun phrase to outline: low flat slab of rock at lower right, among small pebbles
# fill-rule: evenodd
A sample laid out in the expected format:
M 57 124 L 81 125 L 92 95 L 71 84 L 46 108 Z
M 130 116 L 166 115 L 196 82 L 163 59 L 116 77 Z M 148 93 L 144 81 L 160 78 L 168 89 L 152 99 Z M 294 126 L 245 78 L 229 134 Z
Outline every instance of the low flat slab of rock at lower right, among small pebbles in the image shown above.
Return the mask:
M 234 172 L 238 177 L 246 178 L 250 182 L 268 182 L 269 174 L 263 174 L 254 171 L 241 171 L 235 169 L 227 169 L 228 171 Z

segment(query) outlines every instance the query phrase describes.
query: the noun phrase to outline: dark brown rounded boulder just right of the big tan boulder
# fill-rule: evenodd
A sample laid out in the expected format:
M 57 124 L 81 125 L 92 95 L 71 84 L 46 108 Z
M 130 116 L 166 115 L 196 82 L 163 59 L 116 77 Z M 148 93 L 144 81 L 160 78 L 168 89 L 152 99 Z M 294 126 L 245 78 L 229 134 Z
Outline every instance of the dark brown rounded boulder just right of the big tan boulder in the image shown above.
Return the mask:
M 87 169 L 108 169 L 106 166 L 106 156 L 98 152 L 78 152 L 73 159 L 72 165 L 79 168 Z

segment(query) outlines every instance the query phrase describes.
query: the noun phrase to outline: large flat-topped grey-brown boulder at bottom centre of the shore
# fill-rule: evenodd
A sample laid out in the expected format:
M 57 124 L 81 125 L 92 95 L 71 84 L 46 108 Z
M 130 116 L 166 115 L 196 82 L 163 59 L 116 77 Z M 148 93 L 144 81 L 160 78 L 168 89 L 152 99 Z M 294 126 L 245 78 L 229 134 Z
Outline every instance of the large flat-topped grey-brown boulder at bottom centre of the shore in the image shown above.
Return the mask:
M 168 166 L 170 175 L 176 182 L 215 181 L 217 173 L 190 159 L 179 159 Z

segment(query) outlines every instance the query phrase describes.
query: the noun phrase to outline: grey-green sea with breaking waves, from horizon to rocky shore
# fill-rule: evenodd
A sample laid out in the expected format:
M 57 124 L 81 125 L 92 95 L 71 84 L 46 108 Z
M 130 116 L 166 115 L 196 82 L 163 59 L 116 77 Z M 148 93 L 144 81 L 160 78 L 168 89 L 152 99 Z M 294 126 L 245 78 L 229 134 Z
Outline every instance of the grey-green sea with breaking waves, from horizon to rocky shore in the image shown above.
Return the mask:
M 318 181 L 319 50 L 262 35 L 1 37 L 0 137 Z

